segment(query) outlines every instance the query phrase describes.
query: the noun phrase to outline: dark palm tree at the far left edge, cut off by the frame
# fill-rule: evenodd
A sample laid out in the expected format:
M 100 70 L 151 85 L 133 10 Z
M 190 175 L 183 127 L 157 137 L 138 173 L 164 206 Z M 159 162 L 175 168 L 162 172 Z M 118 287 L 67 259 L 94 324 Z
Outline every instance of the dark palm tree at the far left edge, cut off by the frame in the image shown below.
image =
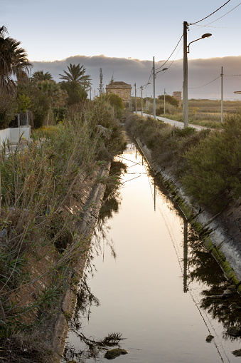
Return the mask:
M 5 37 L 7 29 L 0 28 L 0 93 L 16 93 L 16 84 L 12 79 L 26 76 L 31 70 L 25 49 L 20 47 L 21 42 Z

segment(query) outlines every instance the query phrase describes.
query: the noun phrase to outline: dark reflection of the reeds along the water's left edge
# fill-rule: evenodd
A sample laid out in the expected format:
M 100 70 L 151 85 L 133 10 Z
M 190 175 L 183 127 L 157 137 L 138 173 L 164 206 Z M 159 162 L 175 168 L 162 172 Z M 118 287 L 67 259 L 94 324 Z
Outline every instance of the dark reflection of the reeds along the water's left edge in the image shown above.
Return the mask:
M 107 337 L 102 339 L 87 337 L 82 329 L 82 321 L 83 319 L 89 321 L 92 307 L 98 307 L 100 305 L 100 300 L 92 294 L 88 285 L 89 277 L 93 277 L 96 272 L 94 263 L 95 255 L 102 253 L 104 258 L 104 249 L 102 246 L 105 243 L 109 246 L 112 256 L 116 258 L 114 244 L 107 236 L 108 228 L 106 222 L 119 210 L 119 205 L 122 201 L 119 191 L 121 187 L 120 179 L 122 173 L 125 173 L 126 170 L 126 165 L 121 161 L 115 160 L 112 162 L 109 181 L 107 183 L 102 207 L 92 238 L 92 245 L 90 246 L 85 271 L 83 272 L 82 280 L 78 286 L 75 312 L 73 318 L 69 322 L 70 332 L 75 334 L 75 337 L 80 340 L 83 348 L 76 349 L 74 345 L 67 342 L 65 344 L 62 362 L 70 362 L 73 359 L 75 362 L 85 362 L 85 360 L 90 358 L 96 360 L 102 349 L 105 349 L 106 347 L 119 347 L 119 342 L 123 339 L 121 333 L 109 333 Z

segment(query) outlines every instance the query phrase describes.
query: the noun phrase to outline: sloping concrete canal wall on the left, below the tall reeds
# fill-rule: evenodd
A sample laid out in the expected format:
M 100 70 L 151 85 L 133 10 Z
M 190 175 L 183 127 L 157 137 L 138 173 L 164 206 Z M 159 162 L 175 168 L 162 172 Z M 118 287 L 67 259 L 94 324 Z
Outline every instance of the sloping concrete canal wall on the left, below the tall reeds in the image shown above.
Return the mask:
M 85 239 L 85 246 L 80 251 L 80 257 L 77 259 L 77 263 L 73 268 L 72 275 L 70 277 L 70 284 L 65 292 L 60 306 L 56 310 L 58 312 L 53 315 L 48 327 L 45 327 L 43 334 L 43 340 L 48 344 L 48 348 L 53 352 L 51 362 L 60 362 L 63 357 L 63 350 L 65 348 L 65 339 L 68 334 L 68 321 L 73 317 L 75 305 L 77 302 L 77 286 L 81 281 L 83 271 L 87 262 L 87 255 L 90 249 L 92 233 L 95 229 L 97 217 L 102 206 L 102 200 L 105 193 L 105 183 L 101 180 L 109 175 L 111 163 L 107 163 L 104 168 L 97 175 L 99 182 L 95 183 L 94 188 L 90 190 L 90 193 L 85 203 L 87 208 L 79 223 L 77 223 L 76 230 L 79 235 Z

